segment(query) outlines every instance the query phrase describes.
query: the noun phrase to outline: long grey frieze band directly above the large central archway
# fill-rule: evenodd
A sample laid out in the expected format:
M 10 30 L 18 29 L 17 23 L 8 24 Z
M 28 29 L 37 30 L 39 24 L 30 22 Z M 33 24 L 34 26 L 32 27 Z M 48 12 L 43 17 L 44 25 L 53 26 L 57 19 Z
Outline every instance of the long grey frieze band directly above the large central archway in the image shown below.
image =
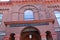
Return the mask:
M 41 22 L 41 23 L 35 23 L 35 24 L 10 24 L 10 27 L 22 27 L 22 26 L 41 26 L 41 25 L 49 25 L 48 22 Z

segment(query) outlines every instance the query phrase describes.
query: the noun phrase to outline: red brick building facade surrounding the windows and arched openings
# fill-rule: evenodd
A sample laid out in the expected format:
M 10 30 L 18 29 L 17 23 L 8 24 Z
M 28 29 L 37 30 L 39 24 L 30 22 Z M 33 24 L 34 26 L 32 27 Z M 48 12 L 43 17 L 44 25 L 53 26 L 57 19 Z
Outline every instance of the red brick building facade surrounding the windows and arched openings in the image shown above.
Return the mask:
M 46 32 L 50 31 L 53 40 L 59 40 L 60 26 L 56 20 L 54 11 L 60 11 L 60 1 L 15 1 L 0 2 L 0 13 L 3 13 L 0 31 L 5 31 L 4 40 L 9 40 L 10 34 L 15 33 L 15 40 L 21 40 L 21 32 L 27 26 L 10 27 L 11 24 L 35 24 L 48 22 L 49 25 L 32 26 L 39 30 L 41 40 L 46 39 Z M 25 21 L 24 11 L 33 10 L 34 20 Z M 58 30 L 59 29 L 59 30 Z M 58 32 L 57 32 L 58 31 Z M 59 35 L 58 35 L 59 34 Z

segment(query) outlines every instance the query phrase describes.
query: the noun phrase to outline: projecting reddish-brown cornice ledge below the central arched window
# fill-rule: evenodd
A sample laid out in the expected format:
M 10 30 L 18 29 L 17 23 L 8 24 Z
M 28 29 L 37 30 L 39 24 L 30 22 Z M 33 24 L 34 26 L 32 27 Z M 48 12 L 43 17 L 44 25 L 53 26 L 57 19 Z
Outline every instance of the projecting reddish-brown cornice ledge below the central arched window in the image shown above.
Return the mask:
M 4 22 L 5 25 L 10 25 L 10 24 L 34 24 L 34 23 L 41 23 L 41 22 L 51 22 L 54 24 L 54 19 L 45 19 L 45 20 L 31 20 L 31 21 L 9 21 L 9 22 Z

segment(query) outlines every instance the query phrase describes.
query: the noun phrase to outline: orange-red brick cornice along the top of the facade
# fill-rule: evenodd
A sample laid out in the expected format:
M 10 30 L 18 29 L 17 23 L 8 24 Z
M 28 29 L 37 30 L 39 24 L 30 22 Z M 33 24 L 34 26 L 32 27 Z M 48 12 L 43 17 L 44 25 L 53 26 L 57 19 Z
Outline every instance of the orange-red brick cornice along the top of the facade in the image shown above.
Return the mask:
M 0 2 L 0 5 L 14 5 L 14 4 L 56 4 L 60 1 L 9 1 L 9 2 Z

